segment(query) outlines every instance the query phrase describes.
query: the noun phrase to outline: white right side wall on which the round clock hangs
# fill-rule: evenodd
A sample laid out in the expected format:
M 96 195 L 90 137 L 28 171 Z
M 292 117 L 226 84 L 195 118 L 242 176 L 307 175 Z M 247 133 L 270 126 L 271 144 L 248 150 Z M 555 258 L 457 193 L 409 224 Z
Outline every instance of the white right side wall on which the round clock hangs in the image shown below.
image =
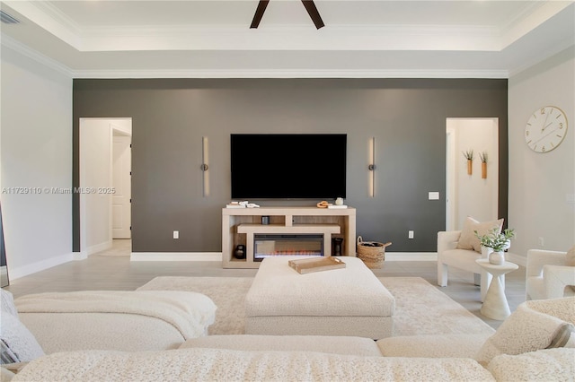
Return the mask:
M 511 252 L 565 251 L 575 244 L 575 48 L 509 78 L 509 228 L 517 231 Z M 526 145 L 527 119 L 553 105 L 569 123 L 563 143 L 552 152 Z M 539 238 L 544 239 L 540 245 Z

